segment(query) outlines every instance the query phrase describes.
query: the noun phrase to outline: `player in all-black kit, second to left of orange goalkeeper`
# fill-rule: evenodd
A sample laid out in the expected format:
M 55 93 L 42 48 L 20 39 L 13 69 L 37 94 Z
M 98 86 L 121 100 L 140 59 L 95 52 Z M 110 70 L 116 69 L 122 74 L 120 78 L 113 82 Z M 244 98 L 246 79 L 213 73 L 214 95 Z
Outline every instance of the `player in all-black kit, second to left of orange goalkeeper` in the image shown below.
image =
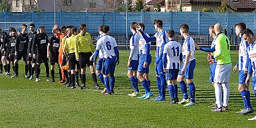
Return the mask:
M 32 52 L 33 52 L 33 58 L 37 58 L 37 66 L 35 68 L 36 70 L 36 82 L 39 82 L 39 74 L 40 74 L 40 65 L 42 62 L 45 63 L 45 70 L 47 73 L 47 82 L 49 82 L 49 64 L 48 64 L 48 58 L 47 58 L 47 42 L 48 36 L 45 34 L 45 27 L 40 26 L 39 27 L 39 33 L 35 34 L 33 38 L 33 45 L 32 45 Z

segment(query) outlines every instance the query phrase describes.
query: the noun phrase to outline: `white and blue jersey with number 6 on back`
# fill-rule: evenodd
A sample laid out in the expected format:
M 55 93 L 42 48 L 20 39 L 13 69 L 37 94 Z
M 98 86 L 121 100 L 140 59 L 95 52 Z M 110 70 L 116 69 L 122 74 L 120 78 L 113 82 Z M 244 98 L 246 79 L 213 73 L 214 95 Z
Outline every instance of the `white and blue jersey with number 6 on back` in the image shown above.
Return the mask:
M 112 58 L 116 56 L 114 47 L 116 47 L 116 40 L 109 35 L 102 35 L 97 41 L 96 50 L 101 50 L 103 58 Z

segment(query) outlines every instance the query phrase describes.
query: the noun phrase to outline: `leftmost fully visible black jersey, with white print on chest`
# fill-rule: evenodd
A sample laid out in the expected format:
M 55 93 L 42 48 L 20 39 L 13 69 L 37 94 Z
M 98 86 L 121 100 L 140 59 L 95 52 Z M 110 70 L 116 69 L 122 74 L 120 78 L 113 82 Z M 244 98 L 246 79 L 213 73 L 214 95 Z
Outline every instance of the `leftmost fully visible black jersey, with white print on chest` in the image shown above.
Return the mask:
M 15 55 L 15 52 L 18 52 L 18 50 L 16 49 L 17 40 L 17 36 L 5 36 L 7 54 Z

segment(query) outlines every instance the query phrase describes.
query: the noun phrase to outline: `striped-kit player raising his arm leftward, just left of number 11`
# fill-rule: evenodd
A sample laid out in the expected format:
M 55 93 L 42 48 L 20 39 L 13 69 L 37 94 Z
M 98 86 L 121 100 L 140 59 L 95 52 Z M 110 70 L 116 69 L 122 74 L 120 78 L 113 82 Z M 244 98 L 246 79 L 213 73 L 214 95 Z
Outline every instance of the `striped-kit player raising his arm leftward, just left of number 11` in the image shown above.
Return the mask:
M 163 29 L 163 21 L 161 19 L 156 19 L 154 21 L 154 27 L 156 29 L 156 34 L 150 38 L 140 30 L 143 38 L 147 42 L 152 42 L 156 40 L 156 84 L 158 86 L 159 96 L 153 99 L 154 101 L 165 101 L 166 100 L 166 73 L 163 69 L 162 56 L 164 51 L 164 45 L 168 42 L 167 32 Z

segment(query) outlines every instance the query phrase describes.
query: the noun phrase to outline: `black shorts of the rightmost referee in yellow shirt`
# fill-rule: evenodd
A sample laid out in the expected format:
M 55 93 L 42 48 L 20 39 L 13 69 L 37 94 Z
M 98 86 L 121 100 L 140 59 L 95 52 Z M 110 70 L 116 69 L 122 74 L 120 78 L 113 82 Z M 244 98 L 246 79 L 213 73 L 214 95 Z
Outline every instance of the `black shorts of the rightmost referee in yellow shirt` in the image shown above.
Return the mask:
M 80 68 L 86 68 L 86 65 L 88 67 L 93 65 L 93 62 L 90 61 L 90 56 L 92 56 L 92 52 L 86 52 L 86 53 L 80 52 L 79 53 L 79 57 L 80 57 L 79 65 L 80 65 Z

